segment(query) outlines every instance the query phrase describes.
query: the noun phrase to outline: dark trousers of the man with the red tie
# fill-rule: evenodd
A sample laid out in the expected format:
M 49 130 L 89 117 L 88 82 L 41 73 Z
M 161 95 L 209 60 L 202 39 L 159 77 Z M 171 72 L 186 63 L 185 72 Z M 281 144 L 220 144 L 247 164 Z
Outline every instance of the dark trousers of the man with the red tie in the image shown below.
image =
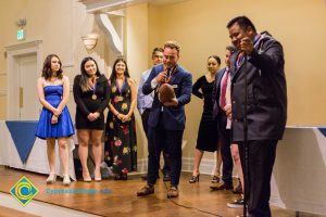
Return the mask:
M 230 130 L 226 129 L 226 114 L 220 110 L 217 115 L 218 140 L 221 142 L 221 154 L 223 161 L 222 180 L 233 186 L 234 159 L 230 153 Z

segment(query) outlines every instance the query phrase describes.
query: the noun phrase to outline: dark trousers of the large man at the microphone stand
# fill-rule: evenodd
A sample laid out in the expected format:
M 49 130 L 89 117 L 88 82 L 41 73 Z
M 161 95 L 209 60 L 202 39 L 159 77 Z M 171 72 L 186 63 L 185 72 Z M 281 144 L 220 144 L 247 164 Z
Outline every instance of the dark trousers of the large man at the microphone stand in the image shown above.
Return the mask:
M 239 142 L 239 152 L 248 196 L 248 212 L 251 217 L 269 217 L 271 177 L 275 162 L 277 140 L 248 141 L 249 181 L 244 174 L 244 146 Z

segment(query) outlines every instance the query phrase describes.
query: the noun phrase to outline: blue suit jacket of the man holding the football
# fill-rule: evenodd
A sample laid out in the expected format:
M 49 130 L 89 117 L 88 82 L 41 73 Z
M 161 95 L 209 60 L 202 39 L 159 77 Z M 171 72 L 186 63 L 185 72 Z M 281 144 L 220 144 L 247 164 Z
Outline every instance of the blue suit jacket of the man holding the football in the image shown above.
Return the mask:
M 149 94 L 154 90 L 151 87 L 151 81 L 163 71 L 164 68 L 162 64 L 155 65 L 152 68 L 150 76 L 142 86 L 142 92 L 145 94 Z M 176 73 L 172 76 L 168 84 L 174 89 L 175 95 L 178 100 L 178 105 L 164 106 L 159 100 L 158 91 L 154 90 L 154 101 L 149 116 L 148 125 L 150 127 L 156 127 L 162 115 L 161 122 L 163 122 L 165 129 L 184 130 L 186 125 L 185 104 L 190 102 L 192 91 L 192 75 L 178 65 Z

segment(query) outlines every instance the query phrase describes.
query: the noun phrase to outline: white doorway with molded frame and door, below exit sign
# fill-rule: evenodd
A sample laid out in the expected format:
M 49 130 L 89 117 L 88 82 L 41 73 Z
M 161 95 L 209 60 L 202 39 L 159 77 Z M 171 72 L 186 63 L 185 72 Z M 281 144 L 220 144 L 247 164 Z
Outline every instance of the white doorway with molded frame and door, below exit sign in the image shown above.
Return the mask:
M 37 97 L 37 78 L 41 72 L 41 41 L 5 47 L 7 119 L 37 120 L 41 105 Z

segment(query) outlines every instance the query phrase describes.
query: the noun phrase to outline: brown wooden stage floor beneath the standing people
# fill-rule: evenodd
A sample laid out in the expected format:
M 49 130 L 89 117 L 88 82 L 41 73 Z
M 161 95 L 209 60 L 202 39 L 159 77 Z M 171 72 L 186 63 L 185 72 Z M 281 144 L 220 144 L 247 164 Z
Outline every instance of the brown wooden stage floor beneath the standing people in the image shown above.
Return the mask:
M 128 177 L 127 181 L 103 180 L 101 182 L 72 182 L 64 187 L 59 180 L 54 184 L 47 184 L 45 175 L 0 167 L 0 191 L 9 192 L 12 186 L 26 176 L 38 189 L 37 201 L 64 206 L 72 209 L 87 212 L 100 216 L 137 216 L 137 217 L 234 217 L 242 213 L 240 208 L 227 208 L 226 203 L 238 197 L 229 191 L 212 192 L 210 176 L 200 176 L 199 183 L 190 184 L 190 174 L 183 174 L 177 199 L 166 199 L 166 186 L 160 179 L 155 186 L 155 194 L 137 197 L 136 192 L 146 184 L 139 176 Z M 96 194 L 50 194 L 53 190 L 85 189 L 106 191 Z M 108 191 L 110 193 L 108 193 Z M 1 202 L 0 202 L 1 204 Z M 28 206 L 28 205 L 27 205 Z M 12 212 L 12 210 L 8 210 Z M 294 216 L 294 212 L 272 207 L 273 216 Z M 2 208 L 1 208 L 1 214 Z

